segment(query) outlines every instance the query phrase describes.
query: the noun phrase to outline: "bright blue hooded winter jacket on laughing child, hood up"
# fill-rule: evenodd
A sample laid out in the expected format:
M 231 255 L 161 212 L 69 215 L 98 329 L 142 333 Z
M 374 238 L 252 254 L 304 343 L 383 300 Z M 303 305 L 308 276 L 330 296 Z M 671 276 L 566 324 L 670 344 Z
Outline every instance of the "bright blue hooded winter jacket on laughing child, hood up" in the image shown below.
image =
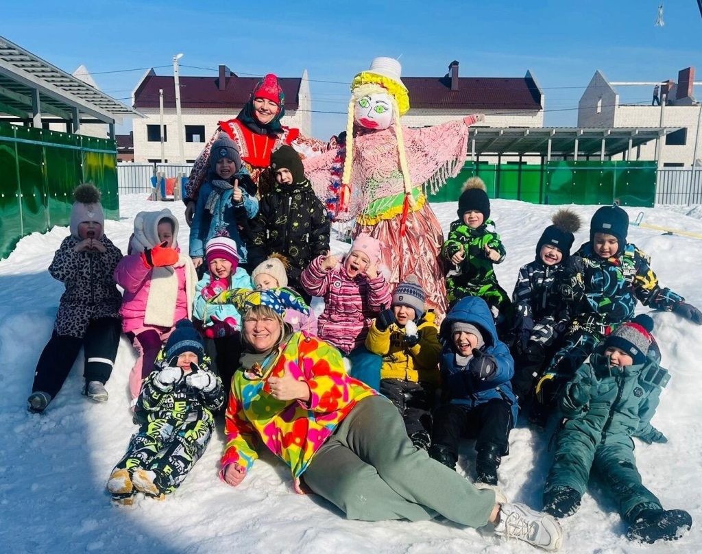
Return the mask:
M 451 338 L 453 322 L 470 323 L 481 331 L 485 342 L 481 351 L 493 356 L 497 362 L 493 378 L 481 381 L 473 376 L 468 365 L 461 367 L 456 364 L 456 352 Z M 519 408 L 510 383 L 515 374 L 515 362 L 505 343 L 497 338 L 494 319 L 485 301 L 477 296 L 466 296 L 458 301 L 442 322 L 439 336 L 444 343 L 439 369 L 444 382 L 444 395 L 449 398 L 449 402 L 472 408 L 489 400 L 505 400 L 510 403 L 512 417 L 516 421 Z

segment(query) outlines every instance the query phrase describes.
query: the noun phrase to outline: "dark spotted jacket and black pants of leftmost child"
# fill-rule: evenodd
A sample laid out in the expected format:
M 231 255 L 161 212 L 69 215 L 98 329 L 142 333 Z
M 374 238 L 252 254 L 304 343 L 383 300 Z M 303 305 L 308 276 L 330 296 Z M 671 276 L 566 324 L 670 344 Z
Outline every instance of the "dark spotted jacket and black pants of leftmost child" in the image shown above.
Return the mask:
M 121 251 L 102 235 L 105 253 L 77 252 L 81 239 L 69 236 L 53 256 L 48 272 L 66 286 L 61 296 L 53 334 L 41 352 L 34 372 L 32 393 L 55 397 L 63 386 L 81 346 L 85 349 L 84 375 L 105 383 L 112 373 L 121 333 L 122 296 L 112 278 Z

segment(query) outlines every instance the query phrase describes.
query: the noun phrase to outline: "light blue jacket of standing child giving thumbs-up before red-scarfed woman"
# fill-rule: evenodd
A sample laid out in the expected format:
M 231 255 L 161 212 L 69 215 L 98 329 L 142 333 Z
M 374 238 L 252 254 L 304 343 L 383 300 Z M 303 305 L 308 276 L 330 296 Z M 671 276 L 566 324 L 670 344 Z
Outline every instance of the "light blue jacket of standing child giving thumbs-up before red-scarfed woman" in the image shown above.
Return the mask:
M 220 195 L 213 213 L 210 213 L 205 208 L 207 199 L 213 190 L 212 183 L 207 181 L 200 187 L 200 192 L 197 195 L 197 204 L 195 213 L 192 218 L 192 226 L 190 227 L 190 257 L 204 258 L 205 246 L 207 242 L 218 235 L 228 235 L 237 243 L 237 251 L 239 252 L 239 261 L 246 263 L 246 244 L 239 235 L 237 227 L 237 218 L 234 214 L 234 209 L 243 206 L 246 211 L 246 217 L 251 219 L 256 217 L 258 213 L 258 199 L 255 194 L 251 194 L 247 190 L 245 183 L 248 183 L 251 178 L 246 169 L 241 169 L 239 173 L 234 175 L 241 183 L 241 192 L 243 197 L 241 202 L 234 204 L 232 202 L 232 194 L 234 190 L 225 190 Z M 226 233 L 223 233 L 226 231 Z

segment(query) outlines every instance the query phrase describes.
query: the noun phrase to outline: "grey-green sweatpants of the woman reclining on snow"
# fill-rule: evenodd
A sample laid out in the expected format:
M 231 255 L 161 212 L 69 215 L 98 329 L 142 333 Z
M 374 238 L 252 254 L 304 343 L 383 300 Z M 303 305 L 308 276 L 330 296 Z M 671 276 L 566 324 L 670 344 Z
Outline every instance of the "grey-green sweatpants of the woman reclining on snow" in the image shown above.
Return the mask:
M 397 408 L 362 400 L 314 455 L 303 478 L 350 520 L 429 520 L 437 514 L 469 527 L 486 525 L 495 493 L 480 490 L 416 449 Z

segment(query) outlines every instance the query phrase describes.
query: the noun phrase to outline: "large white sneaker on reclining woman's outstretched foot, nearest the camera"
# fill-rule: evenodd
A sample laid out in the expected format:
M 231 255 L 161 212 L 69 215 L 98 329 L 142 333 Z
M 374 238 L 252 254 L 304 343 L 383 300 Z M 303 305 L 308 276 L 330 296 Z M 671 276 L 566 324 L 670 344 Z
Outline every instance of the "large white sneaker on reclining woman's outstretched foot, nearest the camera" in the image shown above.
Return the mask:
M 555 518 L 524 504 L 503 504 L 495 532 L 544 550 L 558 550 L 563 544 L 563 529 Z

